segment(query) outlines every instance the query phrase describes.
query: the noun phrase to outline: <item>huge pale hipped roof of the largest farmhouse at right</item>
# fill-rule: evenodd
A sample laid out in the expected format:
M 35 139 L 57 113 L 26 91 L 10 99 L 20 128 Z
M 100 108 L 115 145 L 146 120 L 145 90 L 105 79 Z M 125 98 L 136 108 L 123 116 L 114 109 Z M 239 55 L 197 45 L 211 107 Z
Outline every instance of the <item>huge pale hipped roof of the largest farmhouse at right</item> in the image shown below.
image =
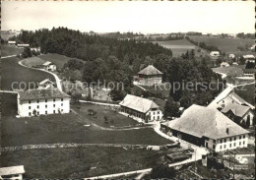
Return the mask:
M 208 137 L 214 140 L 249 133 L 219 110 L 195 104 L 186 109 L 180 118 L 169 121 L 166 125 L 198 138 Z

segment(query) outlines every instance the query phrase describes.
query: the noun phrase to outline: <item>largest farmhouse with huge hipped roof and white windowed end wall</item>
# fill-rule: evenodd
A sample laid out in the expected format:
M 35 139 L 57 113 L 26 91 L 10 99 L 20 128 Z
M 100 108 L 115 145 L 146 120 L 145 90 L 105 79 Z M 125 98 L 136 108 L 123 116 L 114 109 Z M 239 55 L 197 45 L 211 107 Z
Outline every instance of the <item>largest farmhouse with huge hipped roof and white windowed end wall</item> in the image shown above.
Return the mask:
M 212 107 L 191 105 L 178 119 L 161 124 L 168 134 L 214 151 L 247 147 L 248 131 Z

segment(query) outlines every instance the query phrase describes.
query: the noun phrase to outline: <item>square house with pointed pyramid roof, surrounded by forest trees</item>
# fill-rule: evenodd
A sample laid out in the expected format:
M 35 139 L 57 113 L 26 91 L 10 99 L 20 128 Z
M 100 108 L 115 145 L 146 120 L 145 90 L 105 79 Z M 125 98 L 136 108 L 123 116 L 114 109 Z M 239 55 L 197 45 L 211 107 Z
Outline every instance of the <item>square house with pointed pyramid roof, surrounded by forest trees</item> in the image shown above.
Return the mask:
M 149 65 L 138 73 L 138 85 L 154 86 L 160 85 L 162 73 L 153 65 Z

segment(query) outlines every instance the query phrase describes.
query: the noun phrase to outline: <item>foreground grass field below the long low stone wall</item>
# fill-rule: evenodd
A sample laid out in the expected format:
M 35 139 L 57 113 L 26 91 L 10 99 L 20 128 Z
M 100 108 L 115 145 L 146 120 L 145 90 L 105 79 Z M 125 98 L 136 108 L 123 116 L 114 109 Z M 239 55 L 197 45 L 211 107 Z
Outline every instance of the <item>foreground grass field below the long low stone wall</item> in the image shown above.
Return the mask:
M 167 151 L 120 148 L 65 148 L 3 152 L 4 166 L 23 164 L 25 178 L 85 178 L 150 168 Z

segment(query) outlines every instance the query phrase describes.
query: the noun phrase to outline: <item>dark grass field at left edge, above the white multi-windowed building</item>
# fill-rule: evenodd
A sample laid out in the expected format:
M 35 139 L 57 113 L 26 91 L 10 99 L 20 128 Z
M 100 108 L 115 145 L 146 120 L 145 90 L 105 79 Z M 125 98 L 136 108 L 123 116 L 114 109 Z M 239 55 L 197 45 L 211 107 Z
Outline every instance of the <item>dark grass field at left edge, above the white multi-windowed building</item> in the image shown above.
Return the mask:
M 12 85 L 14 85 L 14 89 L 18 89 L 19 85 L 21 85 L 22 89 L 25 89 L 26 87 L 28 90 L 30 82 L 37 84 L 46 78 L 55 82 L 55 78 L 52 75 L 23 67 L 18 64 L 19 60 L 20 59 L 17 57 L 1 60 L 2 90 L 13 90 Z M 31 88 L 33 88 L 33 86 Z

